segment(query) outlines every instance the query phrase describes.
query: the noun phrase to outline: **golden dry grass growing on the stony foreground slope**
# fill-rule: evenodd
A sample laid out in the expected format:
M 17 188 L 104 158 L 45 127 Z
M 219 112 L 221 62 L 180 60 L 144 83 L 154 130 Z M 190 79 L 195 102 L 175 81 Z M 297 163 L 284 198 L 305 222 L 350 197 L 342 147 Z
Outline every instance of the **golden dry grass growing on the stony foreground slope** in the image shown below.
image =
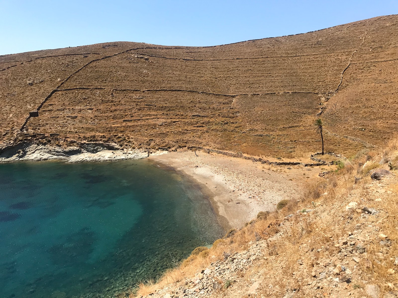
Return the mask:
M 394 146 L 388 147 L 388 149 L 390 149 L 390 155 L 395 154 L 397 150 Z M 377 152 L 370 154 L 377 159 Z M 378 155 L 378 158 L 381 157 L 382 153 Z M 263 261 L 259 268 L 270 273 L 276 272 L 277 274 L 272 276 L 272 284 L 279 286 L 280 289 L 300 288 L 300 284 L 295 284 L 297 281 L 286 279 L 286 277 L 293 276 L 294 271 L 296 271 L 296 277 L 301 274 L 301 271 L 297 272 L 295 266 L 297 266 L 297 260 L 302 257 L 303 248 L 320 250 L 316 257 L 313 256 L 312 259 L 304 260 L 307 272 L 312 270 L 318 260 L 336 255 L 339 252 L 339 248 L 334 244 L 346 232 L 340 228 L 341 208 L 332 208 L 332 206 L 340 206 L 341 202 L 346 203 L 345 198 L 352 194 L 356 183 L 355 175 L 358 173 L 361 173 L 362 179 L 357 182 L 357 190 L 360 190 L 359 195 L 361 197 L 366 195 L 363 186 L 369 184 L 371 179 L 367 174 L 367 169 L 363 170 L 362 166 L 367 159 L 369 159 L 369 154 L 359 154 L 351 161 L 346 162 L 338 172 L 332 173 L 327 180 L 311 180 L 304 186 L 300 202 L 289 201 L 279 211 L 269 213 L 266 216 L 264 214 L 259 215 L 258 219 L 251 221 L 232 236 L 224 240 L 217 240 L 211 249 L 206 250 L 206 252 L 209 252 L 207 255 L 190 257 L 189 264 L 185 263 L 185 265 L 164 273 L 158 284 L 140 284 L 137 293 L 144 296 L 166 286 L 166 284 L 189 280 L 199 270 L 208 267 L 211 262 L 223 259 L 225 253 L 246 250 L 249 247 L 249 242 L 258 237 L 268 239 L 275 236 L 281 229 L 279 222 L 289 214 L 294 214 L 289 220 L 290 228 L 272 242 L 268 242 L 269 261 Z M 378 163 L 376 164 L 378 165 Z M 398 194 L 398 184 L 390 185 L 389 189 Z M 308 214 L 296 212 L 303 207 L 315 207 L 319 204 L 327 205 L 328 210 L 330 209 L 322 217 L 311 217 Z M 363 279 L 368 280 L 369 283 L 377 284 L 382 292 L 387 292 L 392 290 L 393 284 L 398 283 L 398 275 L 393 274 L 396 270 L 394 267 L 395 256 L 398 255 L 398 230 L 396 229 L 396 226 L 398 226 L 396 216 L 398 205 L 396 196 L 390 196 L 389 199 L 382 201 L 378 208 L 383 209 L 388 214 L 385 219 L 378 222 L 379 233 L 387 235 L 387 239 L 392 241 L 392 245 L 390 249 L 380 245 L 379 242 L 382 240 L 380 236 L 372 240 L 359 269 L 363 272 Z M 350 214 L 354 215 L 354 213 L 355 210 L 352 209 L 348 212 L 348 217 Z M 332 265 L 336 266 L 337 264 Z M 283 291 L 280 294 L 283 295 Z M 305 293 L 301 293 L 300 297 L 305 297 L 305 295 Z

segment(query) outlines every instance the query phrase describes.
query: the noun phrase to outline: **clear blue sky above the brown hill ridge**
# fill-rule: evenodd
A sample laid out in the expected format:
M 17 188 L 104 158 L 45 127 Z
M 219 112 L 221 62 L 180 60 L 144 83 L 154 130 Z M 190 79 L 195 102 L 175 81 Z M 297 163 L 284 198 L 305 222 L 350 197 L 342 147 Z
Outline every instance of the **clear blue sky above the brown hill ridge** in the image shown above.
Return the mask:
M 209 46 L 398 14 L 397 0 L 0 0 L 0 54 L 136 41 Z

